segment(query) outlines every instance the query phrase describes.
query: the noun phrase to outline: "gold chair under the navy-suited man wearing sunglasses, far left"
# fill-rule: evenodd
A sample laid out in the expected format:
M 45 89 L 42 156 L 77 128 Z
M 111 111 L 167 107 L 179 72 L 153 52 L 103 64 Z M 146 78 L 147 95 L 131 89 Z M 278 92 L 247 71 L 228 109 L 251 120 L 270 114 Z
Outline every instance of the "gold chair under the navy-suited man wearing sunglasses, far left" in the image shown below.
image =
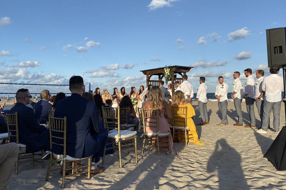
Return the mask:
M 7 114 L 6 122 L 8 128 L 8 138 L 10 142 L 13 142 L 13 139 L 15 139 L 15 143 L 18 144 L 20 151 L 26 151 L 26 145 L 19 143 L 18 113 L 16 112 L 14 114 Z M 18 164 L 20 162 L 32 161 L 32 164 L 34 164 L 34 162 L 39 162 L 42 163 L 42 168 L 45 168 L 44 160 L 41 158 L 35 159 L 34 156 L 41 156 L 42 158 L 44 156 L 44 150 L 42 150 L 41 153 L 19 153 L 16 159 L 15 175 L 18 175 Z

